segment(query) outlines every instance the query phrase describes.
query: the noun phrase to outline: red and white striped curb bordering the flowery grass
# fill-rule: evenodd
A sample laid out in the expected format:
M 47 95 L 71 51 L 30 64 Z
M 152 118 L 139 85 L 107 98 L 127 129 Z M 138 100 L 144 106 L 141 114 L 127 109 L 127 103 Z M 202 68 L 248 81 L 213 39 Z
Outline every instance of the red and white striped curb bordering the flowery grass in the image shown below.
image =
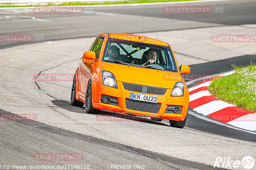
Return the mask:
M 213 97 L 207 90 L 212 79 L 205 80 L 188 89 L 189 107 L 197 113 L 217 119 L 220 122 L 249 131 L 256 131 L 256 113 Z

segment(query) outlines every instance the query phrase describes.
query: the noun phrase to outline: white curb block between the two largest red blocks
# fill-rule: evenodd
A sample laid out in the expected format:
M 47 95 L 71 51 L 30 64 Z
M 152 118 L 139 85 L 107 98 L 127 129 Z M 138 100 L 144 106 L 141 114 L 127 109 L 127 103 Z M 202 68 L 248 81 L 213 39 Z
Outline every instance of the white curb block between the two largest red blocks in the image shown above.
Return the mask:
M 198 106 L 198 107 L 194 108 L 193 110 L 195 110 L 198 113 L 203 114 L 204 116 L 207 116 L 211 113 L 214 113 L 215 111 L 219 111 L 221 109 L 224 109 L 227 107 L 234 107 L 234 106 L 235 105 L 223 102 L 221 100 L 214 100 L 212 102 L 205 103 L 201 106 Z

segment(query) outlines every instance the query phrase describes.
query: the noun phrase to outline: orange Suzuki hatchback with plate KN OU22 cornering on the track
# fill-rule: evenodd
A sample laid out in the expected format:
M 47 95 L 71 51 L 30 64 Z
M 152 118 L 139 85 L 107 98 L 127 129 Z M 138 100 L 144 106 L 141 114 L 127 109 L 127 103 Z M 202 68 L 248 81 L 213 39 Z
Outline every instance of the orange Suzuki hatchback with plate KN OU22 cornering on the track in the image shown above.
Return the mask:
M 138 35 L 102 33 L 84 52 L 73 79 L 70 102 L 87 113 L 109 110 L 169 119 L 172 127 L 187 121 L 189 92 L 171 46 Z

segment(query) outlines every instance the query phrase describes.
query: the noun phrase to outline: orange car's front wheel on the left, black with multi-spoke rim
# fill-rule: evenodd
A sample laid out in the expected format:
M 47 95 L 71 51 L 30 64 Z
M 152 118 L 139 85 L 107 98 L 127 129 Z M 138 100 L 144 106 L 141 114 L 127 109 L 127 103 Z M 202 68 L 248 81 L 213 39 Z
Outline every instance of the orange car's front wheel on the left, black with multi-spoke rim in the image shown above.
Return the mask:
M 85 94 L 85 111 L 86 113 L 91 113 L 91 114 L 100 113 L 99 109 L 95 109 L 92 107 L 92 81 L 91 80 L 89 80 L 86 94 Z

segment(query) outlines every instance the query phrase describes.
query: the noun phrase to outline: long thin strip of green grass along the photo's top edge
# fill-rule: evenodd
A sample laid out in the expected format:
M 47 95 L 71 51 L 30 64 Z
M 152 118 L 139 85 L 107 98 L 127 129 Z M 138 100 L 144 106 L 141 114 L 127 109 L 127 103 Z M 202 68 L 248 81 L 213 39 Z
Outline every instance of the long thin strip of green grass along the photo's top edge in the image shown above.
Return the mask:
M 134 1 L 107 1 L 107 2 L 69 2 L 62 4 L 47 4 L 47 5 L 25 5 L 25 6 L 13 6 L 8 4 L 0 7 L 26 7 L 26 6 L 73 6 L 73 5 L 108 5 L 108 4 L 138 4 L 138 3 L 155 3 L 155 2 L 177 2 L 177 1 L 195 1 L 195 0 L 134 0 Z M 0 1 L 1 2 L 1 1 Z

